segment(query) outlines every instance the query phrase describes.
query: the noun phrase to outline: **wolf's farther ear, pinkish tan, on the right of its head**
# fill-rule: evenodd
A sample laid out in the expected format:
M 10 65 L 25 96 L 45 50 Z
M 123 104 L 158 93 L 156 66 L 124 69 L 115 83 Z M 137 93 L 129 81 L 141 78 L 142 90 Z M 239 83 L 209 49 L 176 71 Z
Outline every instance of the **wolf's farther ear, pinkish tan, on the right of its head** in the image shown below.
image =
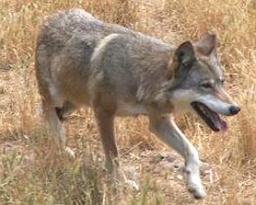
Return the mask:
M 200 37 L 198 42 L 194 43 L 195 50 L 205 56 L 214 54 L 217 48 L 217 37 L 216 35 L 206 33 Z

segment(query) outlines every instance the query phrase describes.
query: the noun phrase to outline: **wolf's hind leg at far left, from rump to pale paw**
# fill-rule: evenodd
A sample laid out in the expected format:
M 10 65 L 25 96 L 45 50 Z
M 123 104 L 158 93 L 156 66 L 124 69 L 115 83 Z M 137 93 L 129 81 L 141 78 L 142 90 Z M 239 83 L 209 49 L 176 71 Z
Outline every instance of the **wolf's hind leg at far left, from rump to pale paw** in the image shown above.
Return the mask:
M 55 144 L 59 148 L 74 157 L 74 152 L 66 147 L 64 127 L 56 113 L 56 107 L 62 107 L 63 99 L 51 78 L 48 48 L 44 44 L 37 45 L 35 67 L 38 89 L 43 102 L 43 115 L 49 124 L 50 134 L 53 135 Z

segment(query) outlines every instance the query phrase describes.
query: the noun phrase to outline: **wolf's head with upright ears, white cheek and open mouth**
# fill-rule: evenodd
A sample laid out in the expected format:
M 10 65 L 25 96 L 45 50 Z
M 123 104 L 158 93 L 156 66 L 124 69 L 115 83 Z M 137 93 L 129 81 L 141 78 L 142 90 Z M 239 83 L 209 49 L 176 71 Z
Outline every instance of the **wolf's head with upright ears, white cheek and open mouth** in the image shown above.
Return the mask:
M 169 64 L 172 83 L 168 93 L 174 112 L 192 109 L 213 131 L 226 130 L 222 115 L 235 115 L 240 107 L 223 88 L 223 70 L 216 50 L 216 36 L 205 34 L 199 42 L 183 42 Z

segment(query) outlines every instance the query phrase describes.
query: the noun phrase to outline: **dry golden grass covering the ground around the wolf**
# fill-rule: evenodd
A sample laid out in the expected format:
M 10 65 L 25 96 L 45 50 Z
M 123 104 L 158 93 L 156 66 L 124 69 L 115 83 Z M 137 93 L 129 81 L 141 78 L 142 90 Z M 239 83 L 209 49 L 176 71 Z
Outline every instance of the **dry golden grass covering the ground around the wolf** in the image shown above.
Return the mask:
M 36 27 L 44 16 L 73 7 L 174 44 L 207 30 L 219 36 L 226 87 L 242 112 L 227 119 L 230 129 L 221 134 L 197 119 L 181 119 L 187 138 L 211 164 L 203 176 L 204 201 L 187 194 L 179 172 L 151 162 L 166 148 L 152 138 L 143 118 L 118 119 L 115 128 L 121 163 L 135 169 L 140 191 L 108 183 L 89 109 L 76 112 L 67 125 L 77 160 L 50 157 L 33 69 Z M 0 22 L 0 204 L 256 204 L 255 1 L 2 0 Z

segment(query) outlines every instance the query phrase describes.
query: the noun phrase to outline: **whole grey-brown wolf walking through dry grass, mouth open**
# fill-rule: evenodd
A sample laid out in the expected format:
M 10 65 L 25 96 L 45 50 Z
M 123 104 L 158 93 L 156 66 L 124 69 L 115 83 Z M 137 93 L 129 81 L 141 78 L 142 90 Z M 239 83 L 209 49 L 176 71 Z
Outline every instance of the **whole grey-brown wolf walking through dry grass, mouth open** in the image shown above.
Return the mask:
M 146 115 L 149 131 L 185 160 L 187 189 L 200 199 L 200 158 L 174 115 L 195 112 L 213 131 L 225 131 L 221 115 L 240 112 L 223 88 L 216 35 L 172 46 L 154 37 L 96 19 L 84 10 L 47 17 L 36 42 L 36 79 L 43 114 L 56 145 L 66 146 L 66 112 L 91 106 L 102 139 L 105 167 L 118 167 L 115 116 Z

